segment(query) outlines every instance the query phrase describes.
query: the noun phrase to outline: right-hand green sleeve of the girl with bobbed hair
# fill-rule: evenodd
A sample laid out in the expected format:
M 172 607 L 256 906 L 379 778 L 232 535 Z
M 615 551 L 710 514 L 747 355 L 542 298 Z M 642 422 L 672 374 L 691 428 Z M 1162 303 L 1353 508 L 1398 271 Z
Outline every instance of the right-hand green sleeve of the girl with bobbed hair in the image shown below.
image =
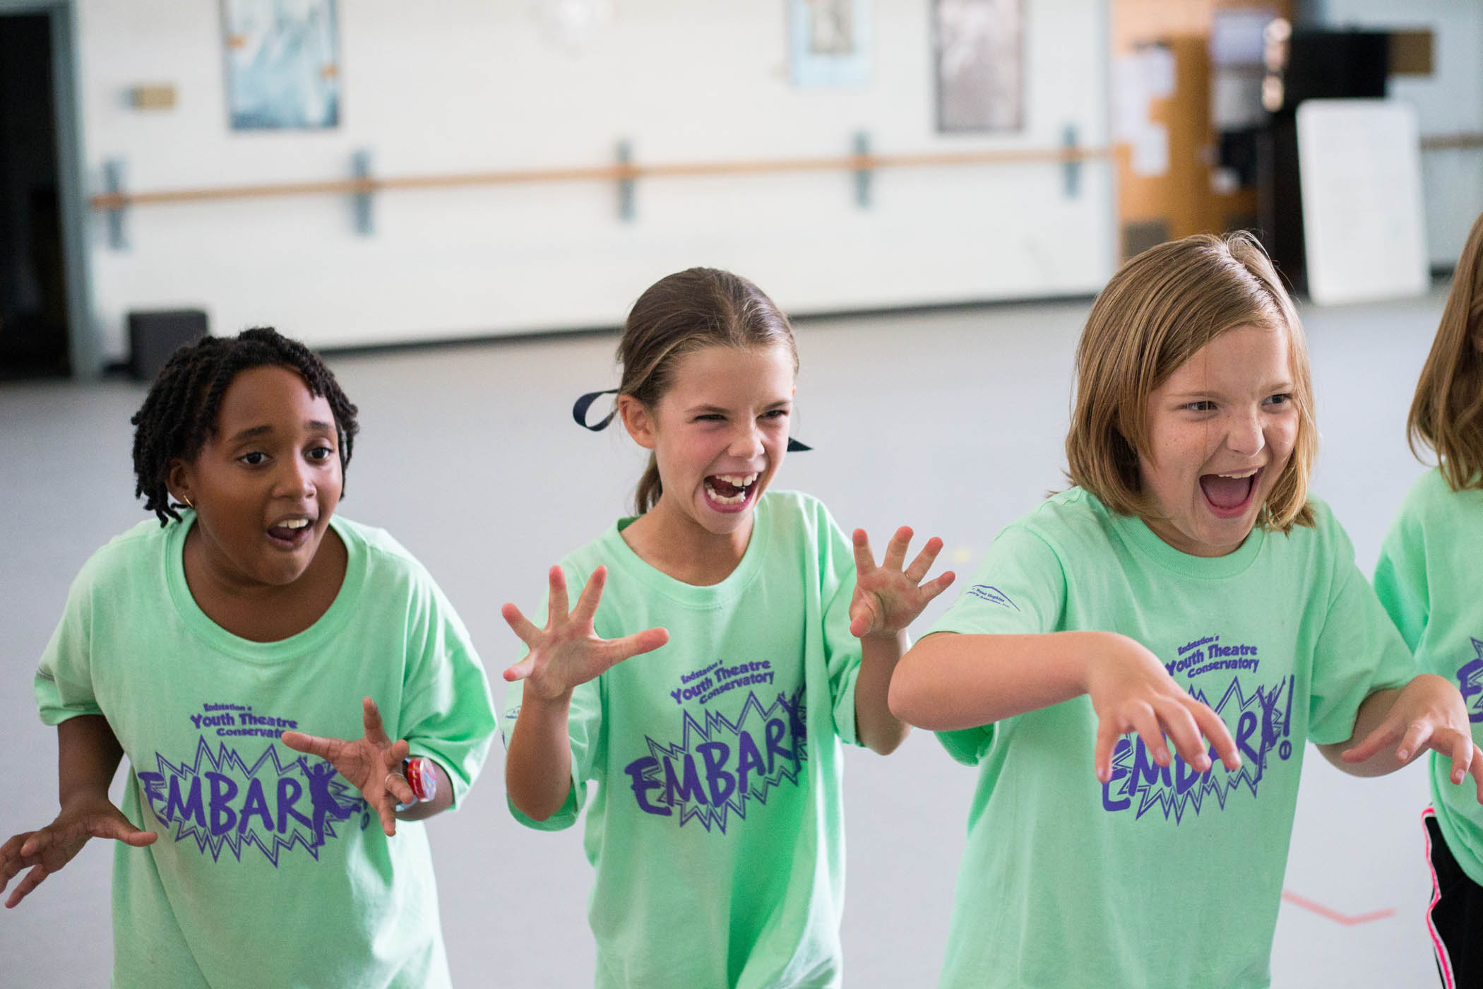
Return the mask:
M 1347 741 L 1366 697 L 1416 675 L 1410 649 L 1354 563 L 1350 537 L 1336 522 L 1329 525 L 1335 590 L 1314 646 L 1308 697 L 1308 737 L 1318 744 Z

